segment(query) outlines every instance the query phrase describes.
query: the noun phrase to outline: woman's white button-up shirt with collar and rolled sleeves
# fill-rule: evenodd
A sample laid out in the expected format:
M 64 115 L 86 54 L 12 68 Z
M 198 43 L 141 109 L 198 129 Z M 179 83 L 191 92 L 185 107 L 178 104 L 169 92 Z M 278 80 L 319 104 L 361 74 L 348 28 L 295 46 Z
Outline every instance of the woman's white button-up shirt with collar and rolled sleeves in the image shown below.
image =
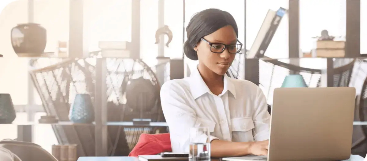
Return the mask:
M 217 96 L 196 68 L 188 78 L 164 83 L 160 96 L 175 153 L 188 153 L 190 127 L 209 127 L 210 141 L 269 139 L 268 104 L 262 90 L 250 81 L 225 75 L 224 90 Z

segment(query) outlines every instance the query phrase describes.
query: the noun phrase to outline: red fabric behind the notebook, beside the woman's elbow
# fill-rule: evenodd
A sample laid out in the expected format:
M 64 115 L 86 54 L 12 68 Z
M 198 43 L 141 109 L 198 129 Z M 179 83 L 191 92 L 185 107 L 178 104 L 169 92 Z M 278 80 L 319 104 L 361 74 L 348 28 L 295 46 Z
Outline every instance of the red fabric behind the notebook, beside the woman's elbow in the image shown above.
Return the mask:
M 166 151 L 172 151 L 170 133 L 141 134 L 137 145 L 132 149 L 129 157 L 156 155 Z

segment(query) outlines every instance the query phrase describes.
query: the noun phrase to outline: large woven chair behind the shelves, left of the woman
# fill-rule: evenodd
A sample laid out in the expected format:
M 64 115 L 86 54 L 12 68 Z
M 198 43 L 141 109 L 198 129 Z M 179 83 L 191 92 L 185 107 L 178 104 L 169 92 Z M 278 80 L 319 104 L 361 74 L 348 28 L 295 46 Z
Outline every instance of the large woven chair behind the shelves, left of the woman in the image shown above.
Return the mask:
M 30 71 L 32 80 L 40 95 L 47 115 L 57 116 L 60 121 L 69 121 L 70 104 L 76 94 L 88 93 L 92 101 L 95 96 L 95 65 L 100 52 L 92 52 L 85 59 L 37 59 L 32 62 L 34 70 Z M 50 62 L 44 65 L 43 62 Z M 160 83 L 158 83 L 154 68 L 149 68 L 142 60 L 106 59 L 107 64 L 107 96 L 108 121 L 132 121 L 134 118 L 165 121 L 160 107 Z M 159 64 L 167 65 L 167 63 Z M 168 64 L 169 65 L 169 64 Z M 129 106 L 127 97 L 132 90 L 126 81 L 134 82 L 145 78 L 152 83 L 151 90 L 155 104 L 141 109 Z M 135 83 L 136 84 L 136 83 Z M 131 89 L 131 88 L 130 88 Z M 149 89 L 148 89 L 149 90 Z M 130 101 L 131 102 L 131 101 Z M 77 156 L 95 156 L 94 126 L 90 125 L 52 125 L 58 142 L 61 144 L 78 144 Z M 166 132 L 165 128 L 152 127 L 108 127 L 109 156 L 128 156 L 131 149 L 142 133 L 154 134 L 157 130 Z

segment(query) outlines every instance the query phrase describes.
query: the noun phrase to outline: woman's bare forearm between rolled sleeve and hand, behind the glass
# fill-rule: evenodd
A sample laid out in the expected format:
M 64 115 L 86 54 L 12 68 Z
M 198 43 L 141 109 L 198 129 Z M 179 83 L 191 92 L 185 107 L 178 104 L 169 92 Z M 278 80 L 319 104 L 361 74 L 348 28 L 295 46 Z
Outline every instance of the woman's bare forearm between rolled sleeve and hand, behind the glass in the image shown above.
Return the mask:
M 251 154 L 250 149 L 253 142 L 228 142 L 215 139 L 210 142 L 213 158 L 237 157 Z

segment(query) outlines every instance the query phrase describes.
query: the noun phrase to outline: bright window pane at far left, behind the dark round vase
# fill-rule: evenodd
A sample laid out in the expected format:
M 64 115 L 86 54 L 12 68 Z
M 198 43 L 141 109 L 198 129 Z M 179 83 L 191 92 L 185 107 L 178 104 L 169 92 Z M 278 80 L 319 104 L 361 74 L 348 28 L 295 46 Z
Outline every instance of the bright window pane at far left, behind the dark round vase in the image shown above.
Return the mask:
M 9 93 L 15 105 L 25 105 L 28 100 L 27 59 L 18 59 L 11 46 L 10 31 L 18 23 L 27 22 L 26 1 L 3 2 L 0 13 L 0 93 Z M 6 5 L 6 6 L 5 6 Z M 9 18 L 11 17 L 11 18 Z M 16 75 L 14 73 L 17 73 Z

